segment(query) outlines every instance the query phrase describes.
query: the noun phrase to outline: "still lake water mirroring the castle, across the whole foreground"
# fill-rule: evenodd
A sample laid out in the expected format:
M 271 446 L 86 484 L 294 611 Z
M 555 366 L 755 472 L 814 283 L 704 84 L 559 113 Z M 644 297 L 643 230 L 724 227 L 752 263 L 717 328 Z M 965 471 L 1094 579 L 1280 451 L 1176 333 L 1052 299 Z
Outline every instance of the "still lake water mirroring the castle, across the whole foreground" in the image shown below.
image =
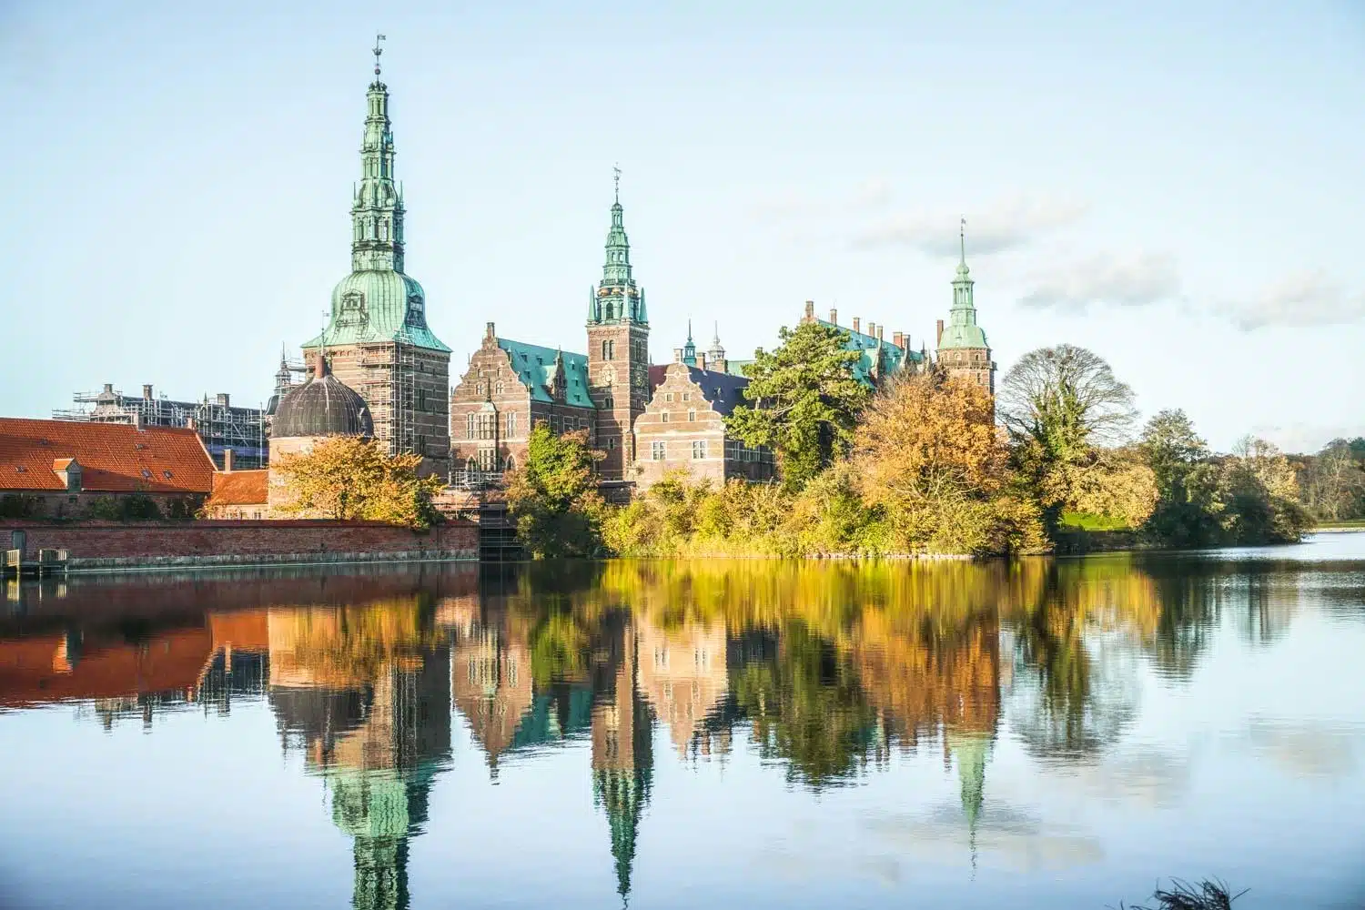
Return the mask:
M 1365 906 L 1365 535 L 10 585 L 0 906 Z

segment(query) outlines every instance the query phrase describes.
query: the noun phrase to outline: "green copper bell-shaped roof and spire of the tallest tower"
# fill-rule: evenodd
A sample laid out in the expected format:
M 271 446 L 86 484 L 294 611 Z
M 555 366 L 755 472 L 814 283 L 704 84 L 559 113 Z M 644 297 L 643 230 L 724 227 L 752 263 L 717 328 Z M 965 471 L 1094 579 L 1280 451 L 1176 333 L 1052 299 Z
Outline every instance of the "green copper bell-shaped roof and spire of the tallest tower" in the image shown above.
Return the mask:
M 326 330 L 303 347 L 397 341 L 449 352 L 427 327 L 422 285 L 403 273 L 403 191 L 393 181 L 389 89 L 378 74 L 366 104 L 362 179 L 351 201 L 351 274 L 332 289 Z

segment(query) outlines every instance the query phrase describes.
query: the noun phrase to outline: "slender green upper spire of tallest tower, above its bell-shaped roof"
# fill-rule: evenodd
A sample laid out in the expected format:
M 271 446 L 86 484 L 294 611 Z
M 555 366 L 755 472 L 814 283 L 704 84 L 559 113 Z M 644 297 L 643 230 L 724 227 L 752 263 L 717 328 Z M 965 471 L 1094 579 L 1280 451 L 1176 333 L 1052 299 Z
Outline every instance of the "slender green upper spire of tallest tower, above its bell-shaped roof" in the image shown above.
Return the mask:
M 379 41 L 374 41 L 374 82 L 366 93 L 360 184 L 351 203 L 351 269 L 403 271 L 403 194 L 393 181 L 389 87 L 379 82 Z

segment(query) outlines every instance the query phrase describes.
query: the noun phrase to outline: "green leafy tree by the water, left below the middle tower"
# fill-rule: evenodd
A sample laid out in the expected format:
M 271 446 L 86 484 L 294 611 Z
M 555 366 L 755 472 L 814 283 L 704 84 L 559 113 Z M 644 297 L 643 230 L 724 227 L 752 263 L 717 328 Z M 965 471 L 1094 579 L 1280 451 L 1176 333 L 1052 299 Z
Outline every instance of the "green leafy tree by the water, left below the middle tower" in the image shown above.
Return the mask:
M 581 430 L 556 435 L 545 423 L 531 430 L 526 464 L 508 475 L 508 509 L 534 558 L 601 553 L 606 503 L 594 469 L 601 460 Z

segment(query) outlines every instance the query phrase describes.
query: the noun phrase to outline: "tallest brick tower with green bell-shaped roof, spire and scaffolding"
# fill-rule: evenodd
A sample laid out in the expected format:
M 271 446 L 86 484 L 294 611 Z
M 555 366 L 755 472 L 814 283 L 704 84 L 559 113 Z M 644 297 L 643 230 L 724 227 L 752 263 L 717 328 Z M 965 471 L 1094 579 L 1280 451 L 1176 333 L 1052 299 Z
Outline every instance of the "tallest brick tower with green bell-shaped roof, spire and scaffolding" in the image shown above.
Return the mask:
M 382 40 L 384 35 L 379 35 Z M 332 372 L 366 400 L 374 438 L 390 454 L 422 454 L 423 473 L 445 473 L 450 458 L 450 349 L 426 322 L 426 293 L 403 267 L 403 190 L 393 177 L 389 87 L 366 91 L 360 183 L 351 201 L 351 274 L 332 291 L 324 333 L 307 342 L 322 351 Z

